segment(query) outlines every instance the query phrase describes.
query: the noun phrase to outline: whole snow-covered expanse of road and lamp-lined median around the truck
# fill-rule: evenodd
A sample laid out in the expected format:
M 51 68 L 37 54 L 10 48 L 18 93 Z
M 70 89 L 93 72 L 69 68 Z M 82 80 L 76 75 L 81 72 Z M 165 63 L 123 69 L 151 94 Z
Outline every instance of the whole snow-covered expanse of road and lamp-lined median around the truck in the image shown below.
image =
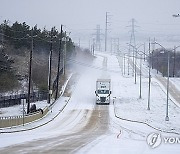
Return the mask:
M 16 149 L 17 153 L 45 151 L 90 154 L 179 154 L 178 143 L 162 143 L 152 149 L 146 142 L 148 134 L 154 132 L 162 135 L 162 142 L 163 137 L 179 137 L 180 134 L 180 108 L 169 101 L 170 120 L 165 121 L 166 94 L 154 77 L 151 84 L 151 110 L 147 110 L 146 66 L 143 68 L 142 99 L 140 99 L 139 75 L 137 84 L 134 84 L 132 68 L 130 75 L 123 75 L 121 57 L 98 52 L 96 56 L 92 65 L 80 66 L 79 70 L 82 72 L 70 98 L 59 98 L 52 112 L 42 120 L 26 125 L 25 128 L 21 126 L 8 131 L 28 129 L 46 123 L 45 125 L 31 131 L 0 134 L 0 153 L 10 153 Z M 102 69 L 103 63 L 106 62 L 107 70 Z M 102 77 L 109 77 L 112 81 L 112 98 L 115 99 L 114 104 L 112 99 L 109 106 L 95 105 L 95 82 L 97 78 Z M 158 128 L 159 131 L 147 124 Z

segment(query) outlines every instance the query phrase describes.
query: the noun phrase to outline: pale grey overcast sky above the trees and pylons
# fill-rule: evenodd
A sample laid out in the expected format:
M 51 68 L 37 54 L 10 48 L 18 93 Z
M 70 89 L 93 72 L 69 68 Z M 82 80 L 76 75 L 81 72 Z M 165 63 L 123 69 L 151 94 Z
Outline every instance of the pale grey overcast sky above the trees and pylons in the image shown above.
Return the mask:
M 50 28 L 66 25 L 73 37 L 95 33 L 105 27 L 109 12 L 109 35 L 128 33 L 132 18 L 139 34 L 174 34 L 180 36 L 180 0 L 0 0 L 0 21 L 26 22 Z M 78 36 L 76 34 L 79 34 Z

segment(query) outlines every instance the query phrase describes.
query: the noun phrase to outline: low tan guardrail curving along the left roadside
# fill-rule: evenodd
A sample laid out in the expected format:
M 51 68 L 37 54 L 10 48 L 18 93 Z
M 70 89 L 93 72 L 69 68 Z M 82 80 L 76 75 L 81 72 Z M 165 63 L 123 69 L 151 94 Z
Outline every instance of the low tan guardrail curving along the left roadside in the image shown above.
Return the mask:
M 38 111 L 24 116 L 20 115 L 20 116 L 0 117 L 0 128 L 24 125 L 33 122 L 45 116 L 48 113 L 48 111 L 49 108 L 45 107 L 43 109 L 43 113 L 41 111 Z

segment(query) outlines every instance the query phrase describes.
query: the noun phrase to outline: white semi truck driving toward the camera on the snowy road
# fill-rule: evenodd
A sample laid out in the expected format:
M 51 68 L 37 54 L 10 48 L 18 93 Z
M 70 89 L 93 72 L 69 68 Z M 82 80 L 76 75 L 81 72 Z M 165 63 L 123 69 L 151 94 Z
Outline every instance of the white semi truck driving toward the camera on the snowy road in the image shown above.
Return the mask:
M 97 79 L 96 81 L 96 104 L 109 104 L 111 95 L 111 80 Z

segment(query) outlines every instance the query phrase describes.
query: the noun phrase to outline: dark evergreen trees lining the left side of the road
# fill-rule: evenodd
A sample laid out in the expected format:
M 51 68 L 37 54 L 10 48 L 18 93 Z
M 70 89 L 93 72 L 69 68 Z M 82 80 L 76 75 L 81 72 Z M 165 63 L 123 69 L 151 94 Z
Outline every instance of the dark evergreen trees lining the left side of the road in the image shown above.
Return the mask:
M 10 24 L 8 20 L 5 20 L 0 24 L 0 92 L 11 90 L 19 86 L 18 81 L 19 78 L 22 78 L 22 72 L 20 75 L 18 74 L 20 70 L 18 67 L 22 67 L 23 71 L 28 70 L 27 58 L 32 48 L 32 38 L 34 56 L 32 80 L 40 89 L 47 90 L 50 43 L 52 42 L 53 44 L 53 56 L 54 59 L 56 58 L 52 66 L 54 68 L 54 76 L 57 67 L 60 38 L 68 38 L 66 41 L 67 57 L 70 57 L 74 53 L 75 46 L 72 39 L 67 36 L 66 32 L 62 32 L 61 34 L 56 27 L 47 30 L 46 28 L 40 29 L 37 25 L 31 27 L 25 22 L 19 23 L 16 21 Z M 64 44 L 65 42 L 62 41 L 62 47 L 64 47 Z M 20 59 L 20 64 L 18 63 L 17 57 Z M 23 59 L 24 57 L 27 58 Z M 26 66 L 23 66 L 25 64 Z M 27 76 L 28 74 L 26 72 L 24 78 L 27 78 Z

